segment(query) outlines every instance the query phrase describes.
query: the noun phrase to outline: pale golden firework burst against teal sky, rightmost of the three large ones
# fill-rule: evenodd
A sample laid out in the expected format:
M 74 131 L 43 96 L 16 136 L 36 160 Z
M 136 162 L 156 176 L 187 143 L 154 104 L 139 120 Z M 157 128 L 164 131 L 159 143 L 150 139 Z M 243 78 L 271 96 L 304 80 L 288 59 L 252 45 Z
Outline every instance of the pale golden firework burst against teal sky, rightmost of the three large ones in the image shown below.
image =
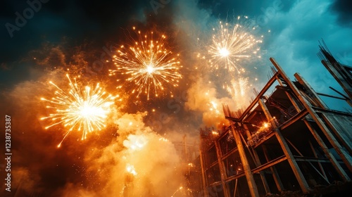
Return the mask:
M 247 18 L 247 17 L 245 17 Z M 208 60 L 210 67 L 218 70 L 224 67 L 229 71 L 236 70 L 241 73 L 244 68 L 241 68 L 239 61 L 243 58 L 258 56 L 259 48 L 256 44 L 261 43 L 251 34 L 254 29 L 249 25 L 240 25 L 240 17 L 237 18 L 237 24 L 219 23 L 219 27 L 214 28 L 213 39 L 208 46 Z M 258 56 L 260 58 L 260 56 Z

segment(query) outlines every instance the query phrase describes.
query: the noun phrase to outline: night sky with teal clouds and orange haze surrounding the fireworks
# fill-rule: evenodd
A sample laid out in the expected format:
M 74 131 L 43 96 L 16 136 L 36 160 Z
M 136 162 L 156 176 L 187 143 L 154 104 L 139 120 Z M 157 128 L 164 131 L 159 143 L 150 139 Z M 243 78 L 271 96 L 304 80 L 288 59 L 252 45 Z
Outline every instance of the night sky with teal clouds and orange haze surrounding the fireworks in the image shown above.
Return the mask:
M 29 11 L 32 8 L 27 2 L 37 2 L 36 10 Z M 210 101 L 208 97 L 220 104 L 231 102 L 232 98 L 221 90 L 212 71 L 194 56 L 211 39 L 211 30 L 219 20 L 232 23 L 237 15 L 246 15 L 257 27 L 253 34 L 263 35 L 261 58 L 246 59 L 241 65 L 246 68 L 246 77 L 252 85 L 248 92 L 253 87 L 260 91 L 266 83 L 271 66 L 269 58 L 273 57 L 291 80 L 294 73 L 299 72 L 316 91 L 338 96 L 329 86 L 342 91 L 339 84 L 316 55 L 318 41 L 322 39 L 339 62 L 352 65 L 352 2 L 347 0 L 27 2 L 6 0 L 1 4 L 1 125 L 5 125 L 5 115 L 11 115 L 13 155 L 11 192 L 5 191 L 3 184 L 0 196 L 2 193 L 14 196 L 18 188 L 20 196 L 36 193 L 42 196 L 118 195 L 119 191 L 111 188 L 113 184 L 120 184 L 120 177 L 123 177 L 120 172 L 123 162 L 118 158 L 128 155 L 124 140 L 130 139 L 131 134 L 148 133 L 151 141 L 159 135 L 170 141 L 182 141 L 182 136 L 187 135 L 189 143 L 194 143 L 199 127 L 216 127 L 222 118 L 213 118 L 203 106 Z M 19 21 L 18 15 L 27 15 L 27 19 Z M 142 32 L 152 30 L 166 34 L 170 49 L 180 54 L 183 77 L 179 87 L 172 87 L 175 97 L 163 95 L 147 101 L 131 96 L 129 87 L 115 89 L 116 79 L 108 77 L 108 70 L 114 68 L 111 54 L 129 41 L 127 36 L 132 27 Z M 97 62 L 101 64 L 97 66 Z M 56 148 L 65 129 L 59 125 L 44 129 L 48 122 L 39 118 L 48 112 L 40 98 L 50 97 L 55 91 L 49 86 L 50 80 L 60 86 L 67 84 L 68 68 L 70 75 L 82 76 L 82 84 L 101 82 L 107 91 L 120 94 L 121 101 L 115 102 L 116 111 L 106 129 L 99 134 L 89 134 L 84 141 L 78 140 L 80 133 L 73 132 L 61 148 Z M 230 79 L 226 72 L 222 72 L 221 77 Z M 199 96 L 206 91 L 208 97 Z M 249 100 L 244 103 L 248 104 Z M 330 102 L 328 106 L 345 110 L 346 105 L 333 101 L 335 103 Z M 125 122 L 130 120 L 137 122 L 141 131 L 125 127 Z M 3 153 L 5 138 L 4 134 L 1 136 Z M 119 148 L 112 148 L 114 144 Z M 175 151 L 171 145 L 159 154 L 168 158 L 166 155 Z M 108 157 L 109 154 L 112 156 Z M 178 158 L 168 160 L 179 163 Z M 163 162 L 154 160 L 151 164 Z M 170 167 L 167 164 L 174 163 L 163 166 Z M 153 165 L 150 167 L 153 171 Z M 115 174 L 103 175 L 98 168 L 105 168 L 103 173 Z M 2 182 L 6 178 L 4 171 L 5 164 L 1 161 Z M 160 180 L 163 180 L 162 175 Z M 161 183 L 152 182 L 156 188 L 152 192 L 167 193 L 157 189 Z M 170 187 L 177 188 L 177 184 L 172 183 Z M 170 188 L 171 194 L 172 191 L 175 189 Z

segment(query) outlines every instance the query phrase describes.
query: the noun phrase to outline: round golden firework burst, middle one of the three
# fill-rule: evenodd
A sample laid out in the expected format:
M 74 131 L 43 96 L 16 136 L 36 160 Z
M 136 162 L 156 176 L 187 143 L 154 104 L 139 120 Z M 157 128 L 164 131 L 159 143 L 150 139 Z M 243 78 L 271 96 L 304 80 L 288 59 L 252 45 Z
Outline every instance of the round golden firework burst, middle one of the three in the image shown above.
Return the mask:
M 114 56 L 116 70 L 110 70 L 111 75 L 116 72 L 127 75 L 126 81 L 135 85 L 132 93 L 136 93 L 137 98 L 146 94 L 149 100 L 150 94 L 159 96 L 164 94 L 165 89 L 172 96 L 169 87 L 177 87 L 182 78 L 179 55 L 175 56 L 167 49 L 165 35 L 154 41 L 153 32 L 142 36 L 140 31 L 136 31 L 136 34 L 134 44 L 127 47 L 122 45 L 118 49 L 118 55 Z

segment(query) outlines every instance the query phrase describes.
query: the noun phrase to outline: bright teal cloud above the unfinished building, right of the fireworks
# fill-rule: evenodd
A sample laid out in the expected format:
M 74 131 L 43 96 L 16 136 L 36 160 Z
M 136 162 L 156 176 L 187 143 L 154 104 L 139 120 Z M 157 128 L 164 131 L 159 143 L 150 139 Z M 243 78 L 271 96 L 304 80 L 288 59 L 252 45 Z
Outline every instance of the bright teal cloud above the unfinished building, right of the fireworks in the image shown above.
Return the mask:
M 318 92 L 336 95 L 328 87 L 341 91 L 341 87 L 320 63 L 316 56 L 318 41 L 325 43 L 332 54 L 341 62 L 351 65 L 351 26 L 337 23 L 337 12 L 332 11 L 334 1 L 298 1 L 288 12 L 277 12 L 266 25 L 271 30 L 265 39 L 270 56 L 277 59 L 291 77 L 300 74 Z M 339 105 L 334 108 L 344 110 Z

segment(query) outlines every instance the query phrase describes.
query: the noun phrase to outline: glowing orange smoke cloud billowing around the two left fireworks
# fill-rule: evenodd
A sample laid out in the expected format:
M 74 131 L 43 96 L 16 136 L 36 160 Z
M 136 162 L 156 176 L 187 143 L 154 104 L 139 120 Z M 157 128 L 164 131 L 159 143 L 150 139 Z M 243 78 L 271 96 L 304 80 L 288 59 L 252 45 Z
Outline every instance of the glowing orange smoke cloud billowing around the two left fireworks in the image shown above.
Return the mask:
M 12 187 L 16 195 L 186 196 L 184 174 L 188 162 L 197 156 L 199 127 L 221 129 L 227 125 L 222 103 L 234 109 L 246 106 L 249 92 L 241 88 L 241 82 L 249 83 L 248 78 L 219 80 L 206 61 L 197 57 L 209 44 L 209 27 L 218 21 L 210 10 L 200 8 L 198 1 L 171 1 L 158 9 L 158 15 L 145 9 L 129 21 L 133 25 L 104 26 L 113 33 L 104 32 L 109 40 L 99 37 L 98 47 L 96 43 L 63 39 L 60 44 L 37 46 L 21 62 L 25 68 L 21 71 L 30 76 L 5 89 L 0 103 L 4 113 L 12 117 L 16 155 Z M 165 32 L 172 51 L 180 52 L 183 78 L 175 88 L 175 97 L 140 101 L 127 94 L 128 89 L 116 89 L 119 79 L 108 77 L 108 70 L 114 68 L 113 49 L 125 40 L 125 30 L 132 26 Z M 118 98 L 105 129 L 89 133 L 83 141 L 82 134 L 73 131 L 57 148 L 66 128 L 56 125 L 44 129 L 53 122 L 40 117 L 54 112 L 40 98 L 54 96 L 57 89 L 49 81 L 68 89 L 66 72 L 77 77 L 78 86 L 99 82 Z M 234 103 L 239 98 L 241 102 Z M 184 158 L 182 148 L 186 145 L 193 148 L 191 156 Z

